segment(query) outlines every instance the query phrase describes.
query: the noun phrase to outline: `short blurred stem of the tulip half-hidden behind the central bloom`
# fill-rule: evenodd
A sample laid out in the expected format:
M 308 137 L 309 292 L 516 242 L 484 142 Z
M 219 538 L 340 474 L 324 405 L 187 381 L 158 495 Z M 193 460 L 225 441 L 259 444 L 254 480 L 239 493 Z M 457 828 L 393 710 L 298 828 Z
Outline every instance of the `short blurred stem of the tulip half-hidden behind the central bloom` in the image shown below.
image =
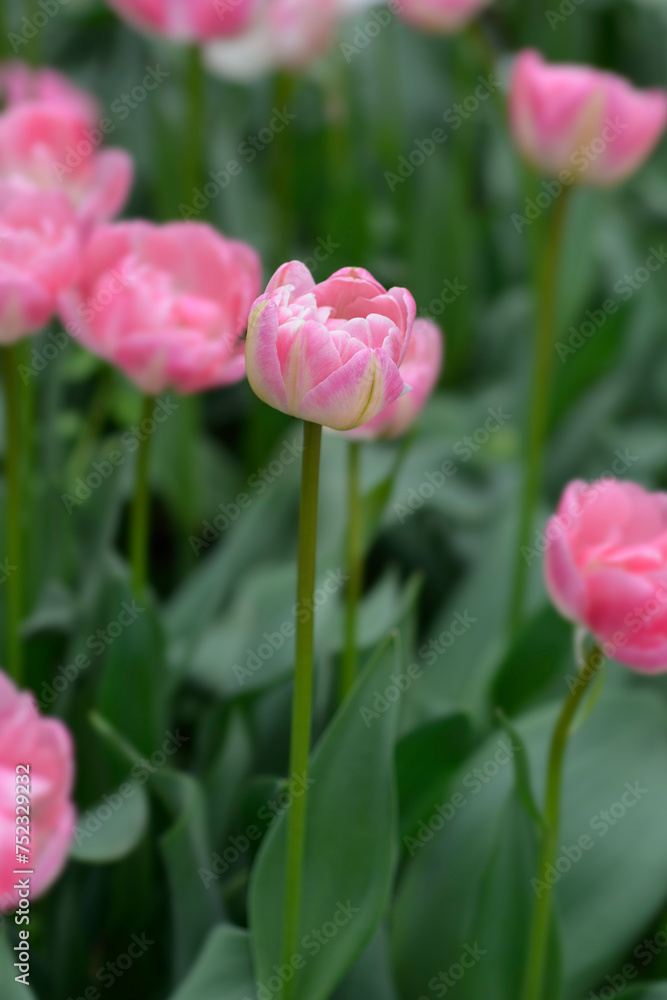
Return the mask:
M 340 678 L 340 701 L 345 701 L 357 677 L 357 609 L 363 579 L 363 539 L 361 498 L 359 495 L 359 442 L 351 441 L 348 450 L 347 512 L 347 596 L 345 610 L 345 649 Z

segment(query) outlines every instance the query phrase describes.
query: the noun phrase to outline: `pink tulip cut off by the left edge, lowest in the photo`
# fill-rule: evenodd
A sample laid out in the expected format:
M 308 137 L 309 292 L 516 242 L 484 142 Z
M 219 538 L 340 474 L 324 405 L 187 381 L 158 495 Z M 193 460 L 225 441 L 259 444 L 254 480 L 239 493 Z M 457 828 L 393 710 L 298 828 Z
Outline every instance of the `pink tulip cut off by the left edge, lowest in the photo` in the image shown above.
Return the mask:
M 24 779 L 27 778 L 26 782 Z M 33 871 L 33 902 L 56 880 L 67 860 L 76 813 L 72 804 L 74 748 L 69 731 L 56 719 L 43 718 L 32 695 L 18 691 L 0 671 L 0 911 L 19 903 L 14 869 Z M 29 864 L 17 862 L 17 793 L 29 803 Z M 25 844 L 18 845 L 25 847 Z

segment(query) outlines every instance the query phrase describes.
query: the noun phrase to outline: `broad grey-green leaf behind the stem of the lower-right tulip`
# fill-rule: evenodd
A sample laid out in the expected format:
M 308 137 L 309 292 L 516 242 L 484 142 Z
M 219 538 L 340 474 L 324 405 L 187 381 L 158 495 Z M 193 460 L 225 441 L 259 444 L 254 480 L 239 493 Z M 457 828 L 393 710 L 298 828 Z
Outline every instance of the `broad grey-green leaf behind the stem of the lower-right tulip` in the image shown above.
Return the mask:
M 516 723 L 538 801 L 559 709 L 540 709 Z M 407 996 L 423 993 L 431 976 L 458 961 L 470 939 L 482 873 L 496 850 L 496 831 L 514 787 L 512 766 L 493 763 L 498 739 L 495 733 L 462 765 L 447 801 L 459 793 L 464 802 L 405 871 L 393 950 Z M 623 804 L 624 796 L 631 805 Z M 555 895 L 569 1000 L 595 989 L 662 907 L 666 825 L 665 704 L 650 691 L 607 691 L 572 736 L 565 762 L 558 844 L 566 872 Z M 592 846 L 580 850 L 584 835 Z M 499 910 L 497 921 L 505 919 Z

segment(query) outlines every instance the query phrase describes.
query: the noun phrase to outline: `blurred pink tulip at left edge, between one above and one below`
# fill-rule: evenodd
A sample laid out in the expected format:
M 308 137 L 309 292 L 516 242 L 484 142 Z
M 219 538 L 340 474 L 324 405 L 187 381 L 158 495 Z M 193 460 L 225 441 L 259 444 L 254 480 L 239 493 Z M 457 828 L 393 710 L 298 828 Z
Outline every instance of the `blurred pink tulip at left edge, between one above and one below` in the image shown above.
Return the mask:
M 132 160 L 98 152 L 104 133 L 60 101 L 26 101 L 0 115 L 0 179 L 64 191 L 84 234 L 116 215 L 132 184 Z

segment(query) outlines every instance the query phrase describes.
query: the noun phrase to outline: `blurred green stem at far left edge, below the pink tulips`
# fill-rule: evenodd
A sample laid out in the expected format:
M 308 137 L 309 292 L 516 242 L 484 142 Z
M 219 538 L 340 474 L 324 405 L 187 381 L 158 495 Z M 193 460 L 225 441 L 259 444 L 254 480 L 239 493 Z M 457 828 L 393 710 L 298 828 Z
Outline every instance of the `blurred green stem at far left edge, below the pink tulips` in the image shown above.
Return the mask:
M 7 578 L 7 668 L 17 682 L 23 680 L 23 645 L 21 617 L 23 610 L 23 553 L 21 497 L 21 398 L 18 381 L 17 346 L 8 345 L 2 352 L 2 378 L 5 388 L 5 545 L 10 573 Z

